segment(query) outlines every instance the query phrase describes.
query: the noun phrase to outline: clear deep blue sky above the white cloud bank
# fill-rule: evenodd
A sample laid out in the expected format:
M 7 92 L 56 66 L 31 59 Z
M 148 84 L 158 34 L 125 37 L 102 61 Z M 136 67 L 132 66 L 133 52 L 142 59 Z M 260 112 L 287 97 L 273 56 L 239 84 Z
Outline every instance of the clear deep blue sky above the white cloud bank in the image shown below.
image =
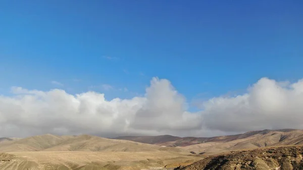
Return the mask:
M 243 93 L 262 77 L 296 81 L 302 7 L 271 0 L 2 1 L 0 94 L 20 86 L 129 98 L 143 95 L 156 76 L 191 101 Z

